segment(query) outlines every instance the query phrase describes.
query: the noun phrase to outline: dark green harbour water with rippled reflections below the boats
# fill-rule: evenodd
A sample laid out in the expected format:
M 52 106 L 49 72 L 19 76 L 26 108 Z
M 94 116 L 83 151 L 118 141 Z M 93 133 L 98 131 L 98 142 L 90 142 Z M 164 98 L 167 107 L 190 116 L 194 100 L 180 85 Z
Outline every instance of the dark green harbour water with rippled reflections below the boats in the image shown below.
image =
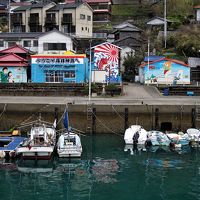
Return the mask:
M 113 135 L 82 143 L 81 159 L 1 160 L 1 199 L 200 199 L 198 149 L 134 149 Z

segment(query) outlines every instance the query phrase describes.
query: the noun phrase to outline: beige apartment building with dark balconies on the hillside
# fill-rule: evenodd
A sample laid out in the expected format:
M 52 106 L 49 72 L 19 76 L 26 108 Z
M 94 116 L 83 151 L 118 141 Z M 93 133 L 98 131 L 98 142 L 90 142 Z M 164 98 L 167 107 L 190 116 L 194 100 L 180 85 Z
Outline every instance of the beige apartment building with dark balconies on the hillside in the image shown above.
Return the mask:
M 93 10 L 83 2 L 36 3 L 13 10 L 12 32 L 47 32 L 53 29 L 80 38 L 92 37 Z

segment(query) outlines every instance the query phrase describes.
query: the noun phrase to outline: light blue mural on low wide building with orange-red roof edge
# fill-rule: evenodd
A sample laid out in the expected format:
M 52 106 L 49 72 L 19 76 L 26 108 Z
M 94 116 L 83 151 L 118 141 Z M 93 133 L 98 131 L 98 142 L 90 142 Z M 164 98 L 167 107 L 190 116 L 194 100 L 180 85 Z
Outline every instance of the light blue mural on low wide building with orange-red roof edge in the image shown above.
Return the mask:
M 190 84 L 190 68 L 171 60 L 145 65 L 144 76 L 147 84 Z

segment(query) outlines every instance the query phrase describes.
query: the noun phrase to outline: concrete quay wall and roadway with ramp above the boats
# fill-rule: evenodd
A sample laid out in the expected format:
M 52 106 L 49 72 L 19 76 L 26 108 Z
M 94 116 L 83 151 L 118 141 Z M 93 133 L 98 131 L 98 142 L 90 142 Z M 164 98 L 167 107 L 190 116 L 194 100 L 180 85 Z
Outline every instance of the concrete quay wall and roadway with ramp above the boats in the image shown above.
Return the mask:
M 87 96 L 1 96 L 0 128 L 2 130 L 19 126 L 24 121 L 36 119 L 39 113 L 46 120 L 53 121 L 55 108 L 58 108 L 61 119 L 68 107 L 70 125 L 85 132 L 88 104 L 96 110 L 97 133 L 124 133 L 124 126 L 127 124 L 140 124 L 149 130 L 160 129 L 165 122 L 171 123 L 173 130 L 185 131 L 194 125 L 192 113 L 196 106 L 200 106 L 200 97 L 162 96 L 154 87 L 134 84 L 124 86 L 122 96 L 92 97 L 91 101 Z M 125 108 L 128 122 L 124 120 Z M 62 127 L 61 122 L 60 120 Z

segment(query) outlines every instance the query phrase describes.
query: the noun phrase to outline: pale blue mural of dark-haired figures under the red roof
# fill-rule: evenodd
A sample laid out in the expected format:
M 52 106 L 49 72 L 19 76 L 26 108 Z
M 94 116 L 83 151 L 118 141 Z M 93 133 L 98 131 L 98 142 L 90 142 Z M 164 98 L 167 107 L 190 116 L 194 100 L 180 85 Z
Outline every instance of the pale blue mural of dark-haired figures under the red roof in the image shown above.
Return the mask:
M 0 82 L 1 83 L 27 82 L 26 69 L 24 67 L 0 68 Z

